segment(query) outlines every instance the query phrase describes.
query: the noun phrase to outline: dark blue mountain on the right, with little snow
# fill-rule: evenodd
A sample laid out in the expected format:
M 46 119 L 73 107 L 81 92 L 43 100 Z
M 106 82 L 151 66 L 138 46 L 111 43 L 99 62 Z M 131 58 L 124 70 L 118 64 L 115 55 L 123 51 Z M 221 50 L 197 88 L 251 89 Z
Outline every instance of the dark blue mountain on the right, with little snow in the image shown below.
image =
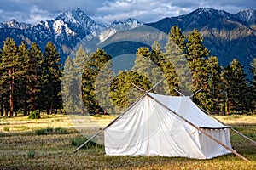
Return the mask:
M 248 73 L 249 63 L 256 56 L 256 11 L 244 9 L 238 14 L 223 10 L 199 8 L 190 14 L 165 18 L 148 26 L 170 32 L 172 26 L 179 26 L 183 34 L 194 28 L 201 31 L 204 45 L 211 55 L 218 56 L 221 65 L 228 65 L 238 59 Z

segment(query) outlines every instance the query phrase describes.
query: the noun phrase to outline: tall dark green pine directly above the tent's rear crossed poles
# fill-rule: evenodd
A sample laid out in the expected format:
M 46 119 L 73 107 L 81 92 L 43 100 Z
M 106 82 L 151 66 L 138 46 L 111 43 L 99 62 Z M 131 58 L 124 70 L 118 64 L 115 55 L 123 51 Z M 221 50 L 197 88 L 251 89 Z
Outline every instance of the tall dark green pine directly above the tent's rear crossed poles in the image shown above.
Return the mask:
M 202 88 L 195 94 L 194 99 L 198 105 L 207 109 L 207 56 L 209 50 L 202 44 L 203 38 L 199 31 L 189 32 L 187 42 L 187 59 L 192 73 L 193 91 Z

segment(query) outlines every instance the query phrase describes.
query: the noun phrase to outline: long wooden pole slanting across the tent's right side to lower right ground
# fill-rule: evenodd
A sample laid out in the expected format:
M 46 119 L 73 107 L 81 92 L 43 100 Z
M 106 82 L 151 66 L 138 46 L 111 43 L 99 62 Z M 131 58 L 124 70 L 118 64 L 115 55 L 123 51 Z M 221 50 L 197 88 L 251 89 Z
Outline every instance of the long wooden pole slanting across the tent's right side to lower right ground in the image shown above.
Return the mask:
M 148 96 L 151 99 L 154 99 L 154 97 L 152 97 L 150 94 L 148 94 Z M 204 129 L 202 129 L 201 127 L 197 127 L 195 126 L 192 122 L 189 122 L 187 119 L 185 119 L 183 116 L 180 116 L 176 111 L 173 111 L 172 109 L 170 109 L 169 107 L 167 107 L 166 105 L 162 104 L 159 100 L 154 99 L 154 101 L 156 101 L 158 104 L 162 105 L 163 107 L 165 107 L 168 111 L 171 111 L 174 115 L 178 116 L 179 118 L 181 118 L 183 121 L 188 122 L 189 125 L 191 125 L 192 127 L 195 127 L 197 130 L 201 131 L 201 133 L 205 134 L 208 138 L 212 139 L 213 141 L 215 141 L 216 143 L 220 144 L 221 146 L 223 146 L 225 149 L 230 150 L 233 154 L 235 154 L 236 156 L 239 156 L 241 159 L 245 160 L 245 161 L 249 161 L 247 160 L 247 158 L 245 158 L 244 156 L 241 156 L 240 154 L 238 154 L 236 152 L 236 150 L 231 149 L 229 146 L 227 146 L 226 144 L 223 144 L 222 142 L 220 142 L 218 139 L 215 139 L 214 137 L 212 137 L 212 135 L 208 134 L 205 132 Z

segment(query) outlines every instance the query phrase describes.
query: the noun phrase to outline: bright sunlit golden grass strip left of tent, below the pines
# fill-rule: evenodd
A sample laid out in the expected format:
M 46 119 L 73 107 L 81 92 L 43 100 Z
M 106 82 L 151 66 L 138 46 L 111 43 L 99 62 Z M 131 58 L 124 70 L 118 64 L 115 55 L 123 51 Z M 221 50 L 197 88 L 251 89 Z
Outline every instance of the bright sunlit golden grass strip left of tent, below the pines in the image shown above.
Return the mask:
M 28 116 L 0 117 L 0 133 L 25 132 L 45 127 L 104 127 L 116 116 L 76 116 L 41 115 L 41 119 L 28 119 Z M 9 131 L 4 128 L 9 128 Z

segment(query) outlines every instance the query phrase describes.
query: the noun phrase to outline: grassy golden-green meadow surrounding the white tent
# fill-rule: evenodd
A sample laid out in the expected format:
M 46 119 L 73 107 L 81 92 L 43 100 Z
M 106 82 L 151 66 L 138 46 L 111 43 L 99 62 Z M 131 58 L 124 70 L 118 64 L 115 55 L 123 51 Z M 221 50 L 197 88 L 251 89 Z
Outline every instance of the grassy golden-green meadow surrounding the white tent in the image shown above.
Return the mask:
M 256 145 L 231 131 L 233 148 L 251 162 L 233 154 L 211 160 L 105 156 L 104 147 L 94 143 L 73 153 L 76 145 L 84 142 L 84 136 L 77 130 L 80 125 L 105 126 L 115 116 L 41 117 L 34 120 L 27 116 L 0 117 L 0 169 L 256 169 Z M 256 140 L 256 116 L 218 116 L 218 119 Z M 98 127 L 90 133 L 95 133 Z

